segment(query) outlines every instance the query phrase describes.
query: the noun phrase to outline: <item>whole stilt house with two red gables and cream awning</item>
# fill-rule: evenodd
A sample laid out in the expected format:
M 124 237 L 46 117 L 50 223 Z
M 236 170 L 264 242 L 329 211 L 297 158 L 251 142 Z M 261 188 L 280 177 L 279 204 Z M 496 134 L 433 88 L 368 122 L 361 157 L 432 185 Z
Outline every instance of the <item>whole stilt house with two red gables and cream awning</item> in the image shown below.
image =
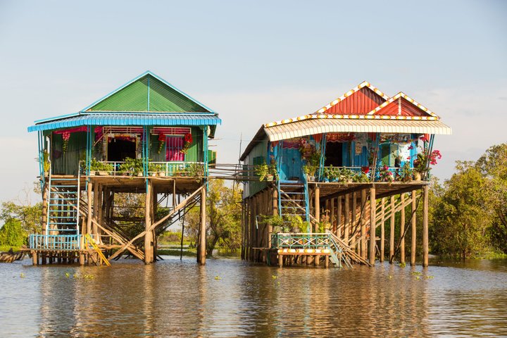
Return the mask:
M 242 258 L 373 265 L 376 256 L 384 260 L 389 220 L 389 258 L 397 250 L 404 261 L 405 208 L 416 208 L 422 192 L 427 265 L 427 184 L 441 157 L 436 134 L 451 128 L 403 92 L 387 96 L 369 82 L 315 113 L 262 125 L 240 158 L 258 176 L 244 186 Z M 396 244 L 395 213 L 403 217 Z M 415 214 L 411 222 L 415 241 Z

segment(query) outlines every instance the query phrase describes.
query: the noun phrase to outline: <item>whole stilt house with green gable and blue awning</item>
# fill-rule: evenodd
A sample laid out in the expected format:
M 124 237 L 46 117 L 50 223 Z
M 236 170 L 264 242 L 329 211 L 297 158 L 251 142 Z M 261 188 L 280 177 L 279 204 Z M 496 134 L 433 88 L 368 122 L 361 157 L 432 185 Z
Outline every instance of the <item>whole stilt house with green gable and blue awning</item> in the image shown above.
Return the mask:
M 155 261 L 157 234 L 186 206 L 206 203 L 215 159 L 208 139 L 218 124 L 217 113 L 150 71 L 77 113 L 35 121 L 28 131 L 39 139 L 44 224 L 30 234 L 34 263 L 108 263 L 124 252 Z M 134 237 L 115 213 L 115 194 L 126 192 L 146 196 L 145 226 Z M 170 196 L 170 212 L 157 219 L 158 198 Z

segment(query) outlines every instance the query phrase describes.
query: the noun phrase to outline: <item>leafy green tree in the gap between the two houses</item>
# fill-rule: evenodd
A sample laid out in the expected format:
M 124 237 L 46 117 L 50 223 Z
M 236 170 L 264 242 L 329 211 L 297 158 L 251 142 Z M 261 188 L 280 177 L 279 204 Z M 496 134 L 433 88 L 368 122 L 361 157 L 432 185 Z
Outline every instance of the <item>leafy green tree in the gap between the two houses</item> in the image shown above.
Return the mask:
M 206 203 L 206 254 L 211 256 L 217 244 L 227 249 L 241 247 L 241 191 L 225 186 L 223 180 L 209 182 Z M 185 229 L 197 242 L 200 227 L 199 207 L 185 217 Z

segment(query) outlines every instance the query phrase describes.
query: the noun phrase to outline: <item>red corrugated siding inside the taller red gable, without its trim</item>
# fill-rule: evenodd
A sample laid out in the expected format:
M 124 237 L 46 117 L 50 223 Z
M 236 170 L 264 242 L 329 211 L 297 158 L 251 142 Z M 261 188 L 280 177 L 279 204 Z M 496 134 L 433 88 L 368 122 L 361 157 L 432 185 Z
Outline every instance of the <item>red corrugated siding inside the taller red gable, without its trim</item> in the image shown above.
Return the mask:
M 368 87 L 363 87 L 358 92 L 339 101 L 337 104 L 325 111 L 326 114 L 361 114 L 369 113 L 373 109 L 383 104 L 386 100 L 382 96 L 375 94 Z

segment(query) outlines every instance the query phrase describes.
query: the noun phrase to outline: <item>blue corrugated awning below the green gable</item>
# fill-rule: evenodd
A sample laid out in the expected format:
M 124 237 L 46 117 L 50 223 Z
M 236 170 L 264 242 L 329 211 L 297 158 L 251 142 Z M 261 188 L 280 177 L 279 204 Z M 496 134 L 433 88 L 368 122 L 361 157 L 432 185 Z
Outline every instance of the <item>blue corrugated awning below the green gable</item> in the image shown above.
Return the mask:
M 222 120 L 215 113 L 192 114 L 192 113 L 92 113 L 73 117 L 62 117 L 37 123 L 28 127 L 28 132 L 41 130 L 55 130 L 82 125 L 220 125 Z

